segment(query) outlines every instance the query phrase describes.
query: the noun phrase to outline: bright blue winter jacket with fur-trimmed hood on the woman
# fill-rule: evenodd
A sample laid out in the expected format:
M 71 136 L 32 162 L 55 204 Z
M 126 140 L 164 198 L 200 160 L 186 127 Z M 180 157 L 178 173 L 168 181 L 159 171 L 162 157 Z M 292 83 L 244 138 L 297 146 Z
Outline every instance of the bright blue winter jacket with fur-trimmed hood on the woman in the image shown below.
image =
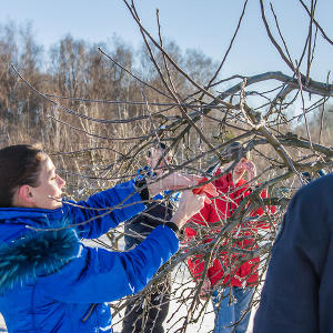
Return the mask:
M 80 239 L 131 219 L 144 210 L 141 202 L 130 181 L 53 211 L 0 209 L 0 312 L 8 331 L 112 332 L 105 302 L 142 290 L 178 251 L 178 238 L 161 225 L 122 253 Z

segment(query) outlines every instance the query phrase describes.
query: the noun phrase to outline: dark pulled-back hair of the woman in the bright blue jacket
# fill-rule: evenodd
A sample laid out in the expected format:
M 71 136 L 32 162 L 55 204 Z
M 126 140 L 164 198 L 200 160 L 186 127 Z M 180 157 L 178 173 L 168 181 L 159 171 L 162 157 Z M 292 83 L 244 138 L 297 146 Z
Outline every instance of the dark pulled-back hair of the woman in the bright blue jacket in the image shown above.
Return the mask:
M 38 144 L 10 145 L 0 150 L 0 206 L 12 206 L 19 186 L 39 185 L 41 162 L 47 157 Z

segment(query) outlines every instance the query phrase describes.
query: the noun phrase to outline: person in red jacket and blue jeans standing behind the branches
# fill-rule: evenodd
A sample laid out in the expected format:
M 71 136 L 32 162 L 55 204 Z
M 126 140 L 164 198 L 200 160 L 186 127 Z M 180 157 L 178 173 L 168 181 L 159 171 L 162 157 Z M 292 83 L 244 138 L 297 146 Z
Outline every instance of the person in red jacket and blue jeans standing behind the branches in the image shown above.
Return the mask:
M 224 155 L 229 158 L 239 154 L 243 154 L 240 142 L 233 142 L 224 152 Z M 222 172 L 219 169 L 214 175 Z M 248 173 L 248 180 L 243 178 L 245 172 Z M 249 160 L 248 154 L 240 159 L 233 172 L 214 180 L 213 184 L 219 196 L 212 199 L 210 204 L 205 203 L 204 208 L 188 221 L 188 228 L 185 229 L 188 242 L 212 242 L 222 228 L 230 222 L 230 218 L 244 198 L 252 193 L 253 186 L 250 183 L 255 175 L 255 164 Z M 268 193 L 263 190 L 260 195 L 266 198 Z M 246 206 L 249 206 L 249 203 Z M 266 213 L 275 212 L 273 206 L 265 210 Z M 264 216 L 263 208 L 251 212 L 249 221 L 238 223 L 231 232 L 223 235 L 221 238 L 222 242 L 214 245 L 211 259 L 196 254 L 188 260 L 194 280 L 204 279 L 201 297 L 206 297 L 213 291 L 214 333 L 244 333 L 248 329 L 250 311 L 246 314 L 245 312 L 253 295 L 253 286 L 258 284 L 260 259 L 254 258 L 244 262 L 245 254 L 241 254 L 236 250 L 251 251 L 258 248 L 254 240 L 258 229 L 270 228 L 269 223 L 258 219 L 258 216 Z M 210 260 L 209 266 L 205 268 L 208 260 Z M 205 276 L 203 276 L 204 272 Z

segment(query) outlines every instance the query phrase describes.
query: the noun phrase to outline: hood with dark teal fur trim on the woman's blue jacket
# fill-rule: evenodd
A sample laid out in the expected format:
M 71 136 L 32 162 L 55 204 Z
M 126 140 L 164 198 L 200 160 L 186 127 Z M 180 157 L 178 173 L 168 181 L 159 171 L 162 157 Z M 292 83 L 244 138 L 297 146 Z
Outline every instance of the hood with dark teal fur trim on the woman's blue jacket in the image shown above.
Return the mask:
M 56 231 L 33 231 L 20 222 L 17 215 L 0 220 L 0 294 L 50 274 L 79 255 L 77 232 L 63 228 L 64 223 Z M 36 222 L 34 226 L 47 226 L 44 221 Z

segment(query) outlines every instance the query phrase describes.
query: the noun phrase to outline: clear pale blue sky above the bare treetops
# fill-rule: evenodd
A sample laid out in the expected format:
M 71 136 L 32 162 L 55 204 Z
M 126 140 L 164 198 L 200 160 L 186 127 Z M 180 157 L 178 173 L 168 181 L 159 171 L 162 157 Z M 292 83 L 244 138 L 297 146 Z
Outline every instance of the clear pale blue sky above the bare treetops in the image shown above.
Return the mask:
M 310 0 L 304 0 L 310 3 Z M 268 17 L 269 2 L 266 3 Z M 302 52 L 309 18 L 297 0 L 273 1 L 293 59 Z M 141 0 L 137 1 L 142 23 L 157 36 L 155 9 L 160 10 L 163 36 L 174 40 L 183 50 L 199 49 L 220 61 L 236 27 L 243 0 Z M 333 38 L 333 1 L 319 0 L 316 19 Z M 134 48 L 141 37 L 122 0 L 10 0 L 2 1 L 0 22 L 21 24 L 32 22 L 38 43 L 46 49 L 67 33 L 91 43 L 108 41 L 113 34 Z M 278 34 L 276 34 L 278 36 Z M 312 77 L 325 81 L 333 69 L 333 47 L 317 41 Z M 259 0 L 249 0 L 240 34 L 222 74 L 256 74 L 268 70 L 290 73 L 275 49 L 270 44 L 261 22 Z

